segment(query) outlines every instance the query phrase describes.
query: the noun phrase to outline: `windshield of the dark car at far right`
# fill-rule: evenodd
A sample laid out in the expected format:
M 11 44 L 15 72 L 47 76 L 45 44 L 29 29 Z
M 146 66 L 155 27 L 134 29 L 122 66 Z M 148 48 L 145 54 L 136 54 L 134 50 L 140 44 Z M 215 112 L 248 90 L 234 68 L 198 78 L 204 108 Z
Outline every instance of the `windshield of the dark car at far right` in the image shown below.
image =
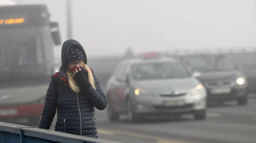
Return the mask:
M 227 57 L 223 56 L 184 57 L 183 61 L 193 70 L 200 72 L 235 69 L 234 64 Z

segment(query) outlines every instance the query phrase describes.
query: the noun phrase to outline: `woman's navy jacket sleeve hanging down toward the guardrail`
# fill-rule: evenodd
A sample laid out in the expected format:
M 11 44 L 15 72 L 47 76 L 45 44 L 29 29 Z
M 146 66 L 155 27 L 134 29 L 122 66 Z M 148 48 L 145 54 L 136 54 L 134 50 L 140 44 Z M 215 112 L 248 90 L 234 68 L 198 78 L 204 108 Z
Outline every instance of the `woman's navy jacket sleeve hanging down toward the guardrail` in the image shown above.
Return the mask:
M 47 89 L 44 110 L 38 127 L 40 129 L 49 129 L 55 116 L 57 96 L 53 84 L 53 80 L 51 80 Z

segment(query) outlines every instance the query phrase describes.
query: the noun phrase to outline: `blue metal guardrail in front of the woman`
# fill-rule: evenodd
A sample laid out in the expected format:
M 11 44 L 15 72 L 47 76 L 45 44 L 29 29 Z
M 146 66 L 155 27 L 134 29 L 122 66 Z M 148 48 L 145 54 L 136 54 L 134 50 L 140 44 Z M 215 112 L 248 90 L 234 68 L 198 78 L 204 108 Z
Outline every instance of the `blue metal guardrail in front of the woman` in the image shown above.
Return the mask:
M 118 143 L 0 122 L 0 143 Z

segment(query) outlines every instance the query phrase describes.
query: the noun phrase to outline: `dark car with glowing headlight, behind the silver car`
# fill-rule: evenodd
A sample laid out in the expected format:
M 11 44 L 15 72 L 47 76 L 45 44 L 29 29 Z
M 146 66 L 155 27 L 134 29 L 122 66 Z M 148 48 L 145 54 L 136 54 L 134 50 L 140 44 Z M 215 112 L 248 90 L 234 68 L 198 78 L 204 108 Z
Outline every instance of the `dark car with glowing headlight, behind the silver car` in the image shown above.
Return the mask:
M 248 83 L 243 72 L 224 55 L 205 54 L 180 57 L 192 71 L 201 72 L 198 78 L 207 89 L 207 103 L 236 100 L 247 104 Z

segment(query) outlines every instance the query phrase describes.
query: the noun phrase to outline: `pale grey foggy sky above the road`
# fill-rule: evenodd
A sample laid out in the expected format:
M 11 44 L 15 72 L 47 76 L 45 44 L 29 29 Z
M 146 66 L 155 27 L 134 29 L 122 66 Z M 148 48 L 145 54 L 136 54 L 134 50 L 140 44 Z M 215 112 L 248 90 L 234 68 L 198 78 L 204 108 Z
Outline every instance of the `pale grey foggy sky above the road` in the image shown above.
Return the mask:
M 45 3 L 67 40 L 66 0 Z M 71 0 L 73 39 L 89 56 L 256 46 L 255 0 Z M 60 47 L 57 55 L 60 55 Z

